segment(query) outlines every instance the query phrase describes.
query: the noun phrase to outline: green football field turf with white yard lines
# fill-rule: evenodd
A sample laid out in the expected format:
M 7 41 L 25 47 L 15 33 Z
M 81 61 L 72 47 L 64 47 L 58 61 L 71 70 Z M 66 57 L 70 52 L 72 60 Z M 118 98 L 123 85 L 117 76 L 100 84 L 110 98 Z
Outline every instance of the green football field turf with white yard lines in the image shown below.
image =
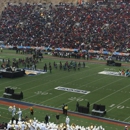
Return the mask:
M 0 53 L 0 59 L 12 59 L 12 58 L 25 58 L 31 56 L 30 54 L 16 54 L 13 50 L 4 50 Z M 75 61 L 75 59 L 72 59 Z M 37 69 L 43 69 L 44 64 L 49 62 L 52 64 L 60 61 L 70 63 L 71 59 L 59 59 L 57 57 L 45 55 L 44 59 L 37 64 Z M 76 60 L 76 62 L 83 62 L 83 60 Z M 2 61 L 0 61 L 2 64 Z M 30 102 L 34 104 L 40 104 L 50 106 L 54 108 L 62 108 L 62 104 L 65 103 L 69 106 L 69 111 L 75 111 L 76 102 L 80 105 L 86 106 L 87 102 L 90 102 L 90 112 L 93 108 L 93 104 L 101 104 L 106 106 L 105 118 L 112 120 L 122 121 L 130 123 L 130 78 L 124 76 L 111 76 L 98 74 L 104 70 L 118 72 L 119 69 L 129 69 L 128 63 L 124 63 L 125 66 L 113 67 L 106 66 L 106 64 L 99 64 L 99 61 L 92 60 L 86 62 L 85 68 L 80 70 L 71 69 L 59 70 L 52 67 L 52 73 L 49 71 L 46 74 L 40 74 L 36 76 L 24 76 L 21 78 L 1 78 L 0 79 L 0 96 L 3 97 L 5 87 L 10 86 L 15 89 L 15 92 L 22 91 L 24 98 L 22 101 Z M 106 61 L 102 61 L 106 63 Z M 21 66 L 22 67 L 22 66 Z M 57 87 L 72 88 L 83 90 L 84 93 L 65 91 L 65 89 L 57 90 Z M 45 114 L 49 113 L 51 121 L 55 122 L 55 113 L 51 111 L 35 109 L 35 116 L 40 120 L 44 120 Z M 29 110 L 23 111 L 24 115 L 29 114 Z M 8 112 L 8 106 L 0 105 L 0 122 L 9 121 L 10 113 Z M 70 116 L 71 123 L 81 124 L 88 126 L 90 124 L 97 124 L 104 126 L 107 130 L 121 130 L 123 126 L 109 124 L 101 122 L 100 120 L 89 120 L 81 117 Z M 65 116 L 61 114 L 60 122 L 64 122 Z

